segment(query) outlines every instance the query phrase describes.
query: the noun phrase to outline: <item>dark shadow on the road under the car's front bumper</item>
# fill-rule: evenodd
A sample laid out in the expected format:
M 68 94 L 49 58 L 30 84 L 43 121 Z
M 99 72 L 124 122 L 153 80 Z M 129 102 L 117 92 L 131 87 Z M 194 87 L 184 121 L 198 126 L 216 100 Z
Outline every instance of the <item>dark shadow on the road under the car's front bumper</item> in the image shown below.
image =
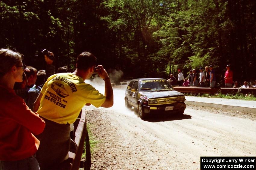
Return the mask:
M 191 119 L 190 115 L 150 115 L 143 119 L 148 122 L 164 122 L 164 121 L 176 121 L 183 119 Z

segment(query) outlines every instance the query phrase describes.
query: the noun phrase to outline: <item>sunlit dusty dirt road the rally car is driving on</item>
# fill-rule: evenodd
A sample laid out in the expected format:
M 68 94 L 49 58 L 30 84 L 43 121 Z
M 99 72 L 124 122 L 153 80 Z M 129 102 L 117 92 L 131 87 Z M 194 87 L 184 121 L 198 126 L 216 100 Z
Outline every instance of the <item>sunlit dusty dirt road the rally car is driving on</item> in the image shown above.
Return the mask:
M 182 116 L 141 120 L 124 106 L 85 107 L 87 123 L 99 141 L 91 169 L 200 169 L 201 156 L 256 156 L 256 116 L 187 106 Z

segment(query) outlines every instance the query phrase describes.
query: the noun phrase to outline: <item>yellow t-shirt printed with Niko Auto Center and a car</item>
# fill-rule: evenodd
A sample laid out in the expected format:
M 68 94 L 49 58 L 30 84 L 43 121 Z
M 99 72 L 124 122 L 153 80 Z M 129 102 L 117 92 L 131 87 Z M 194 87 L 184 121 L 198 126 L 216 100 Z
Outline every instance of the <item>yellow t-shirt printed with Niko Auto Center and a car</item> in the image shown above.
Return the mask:
M 50 76 L 45 82 L 37 113 L 59 124 L 74 123 L 86 103 L 100 107 L 106 97 L 72 73 Z

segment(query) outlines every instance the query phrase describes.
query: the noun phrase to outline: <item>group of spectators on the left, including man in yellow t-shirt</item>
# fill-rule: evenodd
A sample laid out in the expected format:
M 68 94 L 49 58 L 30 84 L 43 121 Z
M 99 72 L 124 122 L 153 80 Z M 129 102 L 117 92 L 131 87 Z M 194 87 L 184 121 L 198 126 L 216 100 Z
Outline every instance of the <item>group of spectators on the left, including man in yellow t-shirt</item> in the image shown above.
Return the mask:
M 76 70 L 55 73 L 54 54 L 42 50 L 45 70 L 23 63 L 14 49 L 0 49 L 0 170 L 50 170 L 68 159 L 75 138 L 73 123 L 83 106 L 111 107 L 113 90 L 97 58 L 81 53 Z M 93 73 L 105 82 L 105 94 L 85 83 Z M 76 148 L 75 148 L 76 149 Z

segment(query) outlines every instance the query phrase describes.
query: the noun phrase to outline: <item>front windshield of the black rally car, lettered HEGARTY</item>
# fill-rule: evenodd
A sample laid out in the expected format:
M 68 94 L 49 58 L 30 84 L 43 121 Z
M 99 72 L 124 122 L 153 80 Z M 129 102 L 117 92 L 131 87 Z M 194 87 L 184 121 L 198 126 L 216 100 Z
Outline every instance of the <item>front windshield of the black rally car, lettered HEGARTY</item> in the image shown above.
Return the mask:
M 139 84 L 140 91 L 170 91 L 172 86 L 166 80 L 142 80 Z

